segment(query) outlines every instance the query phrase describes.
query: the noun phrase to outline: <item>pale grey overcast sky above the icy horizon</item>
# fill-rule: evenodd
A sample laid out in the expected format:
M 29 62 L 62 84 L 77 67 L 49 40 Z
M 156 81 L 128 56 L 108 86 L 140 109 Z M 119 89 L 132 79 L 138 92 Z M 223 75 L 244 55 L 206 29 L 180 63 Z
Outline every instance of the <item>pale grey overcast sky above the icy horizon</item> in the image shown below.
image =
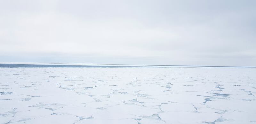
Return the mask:
M 0 62 L 256 66 L 255 0 L 0 0 Z

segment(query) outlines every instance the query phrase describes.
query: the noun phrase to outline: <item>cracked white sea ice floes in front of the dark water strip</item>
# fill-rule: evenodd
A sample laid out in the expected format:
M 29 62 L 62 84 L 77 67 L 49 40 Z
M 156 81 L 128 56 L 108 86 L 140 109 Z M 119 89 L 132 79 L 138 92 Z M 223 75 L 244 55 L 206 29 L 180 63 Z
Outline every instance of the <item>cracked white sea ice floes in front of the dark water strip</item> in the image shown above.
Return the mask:
M 256 68 L 0 68 L 0 124 L 256 124 Z

